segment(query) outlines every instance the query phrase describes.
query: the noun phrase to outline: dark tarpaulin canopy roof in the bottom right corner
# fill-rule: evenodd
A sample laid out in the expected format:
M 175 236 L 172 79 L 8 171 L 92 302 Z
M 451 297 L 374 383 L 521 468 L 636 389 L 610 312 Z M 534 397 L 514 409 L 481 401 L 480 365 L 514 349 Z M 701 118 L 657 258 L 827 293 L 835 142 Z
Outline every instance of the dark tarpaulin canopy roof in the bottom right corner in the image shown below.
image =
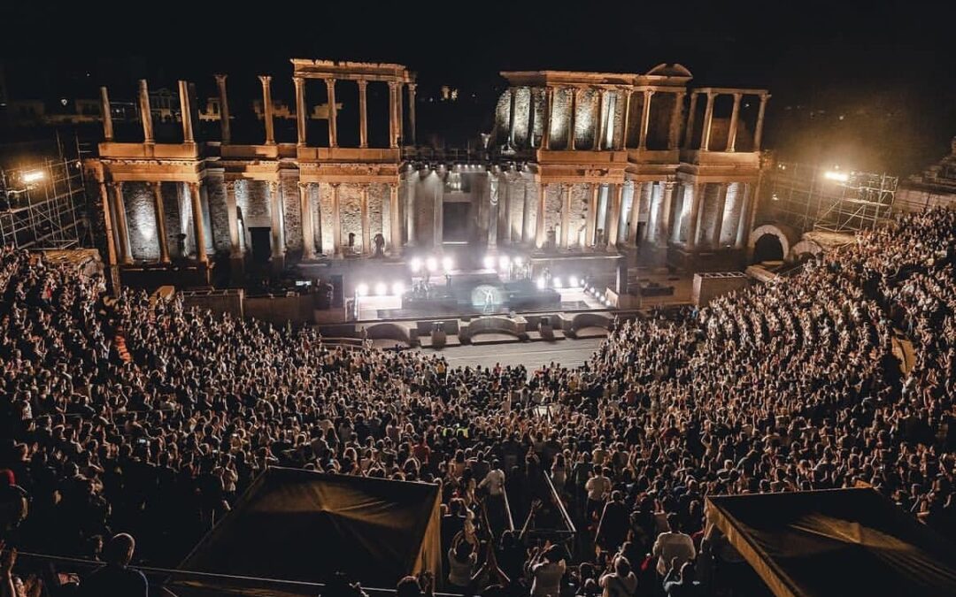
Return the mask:
M 778 597 L 956 595 L 953 545 L 873 489 L 720 496 L 706 512 Z

